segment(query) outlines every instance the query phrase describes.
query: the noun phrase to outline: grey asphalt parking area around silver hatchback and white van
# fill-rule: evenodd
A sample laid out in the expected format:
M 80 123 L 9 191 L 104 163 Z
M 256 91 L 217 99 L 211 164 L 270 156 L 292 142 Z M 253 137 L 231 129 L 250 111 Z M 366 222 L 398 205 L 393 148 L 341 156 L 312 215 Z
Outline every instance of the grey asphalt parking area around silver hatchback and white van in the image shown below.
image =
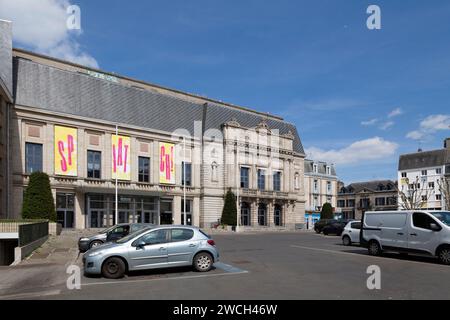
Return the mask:
M 432 258 L 368 256 L 338 237 L 312 233 L 215 235 L 221 263 L 206 274 L 190 268 L 133 273 L 124 279 L 82 277 L 80 290 L 42 299 L 449 299 L 450 267 Z M 81 258 L 77 261 L 81 265 Z M 381 270 L 381 289 L 366 273 Z M 1 297 L 0 297 L 1 298 Z

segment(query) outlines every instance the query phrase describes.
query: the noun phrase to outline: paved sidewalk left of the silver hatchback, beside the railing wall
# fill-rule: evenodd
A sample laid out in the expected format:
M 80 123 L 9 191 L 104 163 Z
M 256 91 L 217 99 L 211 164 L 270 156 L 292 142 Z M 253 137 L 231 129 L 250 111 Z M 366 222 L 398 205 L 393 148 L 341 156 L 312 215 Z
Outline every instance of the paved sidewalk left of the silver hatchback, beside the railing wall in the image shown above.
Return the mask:
M 0 267 L 0 299 L 58 294 L 66 286 L 67 267 L 76 264 L 78 238 L 92 231 L 63 231 L 52 236 L 17 266 Z

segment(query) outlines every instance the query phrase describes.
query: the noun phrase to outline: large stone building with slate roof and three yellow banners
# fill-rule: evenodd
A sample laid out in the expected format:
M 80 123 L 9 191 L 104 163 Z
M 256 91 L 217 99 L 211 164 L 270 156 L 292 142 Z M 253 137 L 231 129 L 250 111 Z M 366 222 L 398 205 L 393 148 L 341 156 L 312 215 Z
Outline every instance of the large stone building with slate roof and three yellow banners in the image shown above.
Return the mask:
M 24 50 L 12 56 L 11 218 L 30 174 L 43 171 L 66 228 L 182 224 L 185 208 L 187 223 L 208 228 L 228 189 L 246 228 L 304 223 L 303 146 L 282 118 Z

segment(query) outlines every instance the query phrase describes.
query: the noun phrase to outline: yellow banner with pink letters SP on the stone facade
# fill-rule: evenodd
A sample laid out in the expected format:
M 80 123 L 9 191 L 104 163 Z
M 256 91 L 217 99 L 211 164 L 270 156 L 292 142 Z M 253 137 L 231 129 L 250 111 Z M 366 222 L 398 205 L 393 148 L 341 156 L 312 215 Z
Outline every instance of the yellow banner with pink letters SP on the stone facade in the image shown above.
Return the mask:
M 55 174 L 77 176 L 77 129 L 55 126 Z

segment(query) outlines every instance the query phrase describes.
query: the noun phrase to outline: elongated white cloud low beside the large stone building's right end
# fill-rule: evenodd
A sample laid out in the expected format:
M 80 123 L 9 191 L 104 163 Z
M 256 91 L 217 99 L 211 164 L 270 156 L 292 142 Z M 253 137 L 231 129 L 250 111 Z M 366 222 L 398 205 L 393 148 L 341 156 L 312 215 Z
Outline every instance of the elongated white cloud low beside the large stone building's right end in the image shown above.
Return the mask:
M 398 144 L 380 137 L 353 142 L 342 149 L 323 150 L 308 148 L 306 154 L 314 160 L 330 161 L 335 164 L 351 164 L 361 161 L 383 159 L 395 154 Z

